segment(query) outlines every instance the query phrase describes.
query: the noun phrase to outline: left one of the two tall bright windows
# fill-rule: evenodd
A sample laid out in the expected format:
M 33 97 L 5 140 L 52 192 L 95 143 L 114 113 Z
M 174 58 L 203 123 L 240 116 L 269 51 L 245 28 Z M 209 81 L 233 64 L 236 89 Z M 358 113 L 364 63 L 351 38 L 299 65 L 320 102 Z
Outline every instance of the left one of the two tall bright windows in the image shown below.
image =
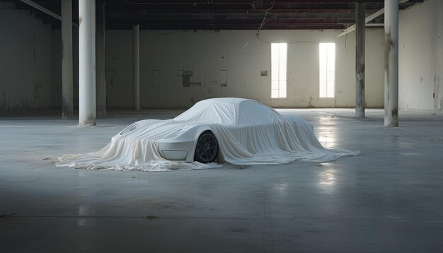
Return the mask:
M 287 44 L 271 44 L 271 98 L 286 98 Z

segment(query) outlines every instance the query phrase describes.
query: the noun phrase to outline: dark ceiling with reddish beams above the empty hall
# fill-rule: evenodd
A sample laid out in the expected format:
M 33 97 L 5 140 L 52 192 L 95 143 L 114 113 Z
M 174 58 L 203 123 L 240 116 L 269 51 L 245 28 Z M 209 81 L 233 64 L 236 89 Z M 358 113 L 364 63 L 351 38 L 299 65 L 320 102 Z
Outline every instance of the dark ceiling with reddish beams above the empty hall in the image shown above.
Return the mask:
M 424 0 L 410 0 L 400 9 Z M 16 7 L 33 11 L 53 28 L 60 21 L 16 0 Z M 60 13 L 60 0 L 35 0 L 37 4 Z M 261 30 L 345 29 L 355 23 L 355 3 L 359 0 L 255 0 L 255 1 L 139 1 L 98 0 L 105 3 L 107 29 L 131 29 L 139 24 L 150 30 Z M 364 1 L 367 16 L 384 8 L 384 0 Z M 72 1 L 74 22 L 78 22 L 79 1 Z M 383 15 L 371 23 L 383 23 Z M 263 25 L 262 25 L 263 23 Z

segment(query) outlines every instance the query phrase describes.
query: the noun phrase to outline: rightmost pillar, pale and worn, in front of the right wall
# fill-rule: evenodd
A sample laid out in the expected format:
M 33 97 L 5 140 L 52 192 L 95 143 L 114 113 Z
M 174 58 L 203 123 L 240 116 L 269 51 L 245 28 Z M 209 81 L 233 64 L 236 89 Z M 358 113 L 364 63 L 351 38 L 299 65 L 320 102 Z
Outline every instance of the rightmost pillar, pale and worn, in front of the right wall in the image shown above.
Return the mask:
M 384 125 L 398 127 L 398 0 L 384 9 Z

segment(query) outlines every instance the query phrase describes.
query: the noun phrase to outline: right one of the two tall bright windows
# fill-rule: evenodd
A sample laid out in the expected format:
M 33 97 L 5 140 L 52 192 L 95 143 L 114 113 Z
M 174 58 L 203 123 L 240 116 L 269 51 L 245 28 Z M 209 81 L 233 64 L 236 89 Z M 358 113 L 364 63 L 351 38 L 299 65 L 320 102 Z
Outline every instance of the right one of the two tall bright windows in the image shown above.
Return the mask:
M 335 96 L 335 43 L 320 43 L 320 98 Z

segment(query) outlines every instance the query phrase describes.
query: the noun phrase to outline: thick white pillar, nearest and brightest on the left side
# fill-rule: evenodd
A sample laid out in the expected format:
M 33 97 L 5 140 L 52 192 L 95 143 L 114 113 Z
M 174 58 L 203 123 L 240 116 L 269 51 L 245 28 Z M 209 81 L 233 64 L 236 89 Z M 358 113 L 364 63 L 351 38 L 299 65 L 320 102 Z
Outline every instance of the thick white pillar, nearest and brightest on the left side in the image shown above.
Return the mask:
M 96 0 L 79 0 L 79 125 L 96 125 Z

